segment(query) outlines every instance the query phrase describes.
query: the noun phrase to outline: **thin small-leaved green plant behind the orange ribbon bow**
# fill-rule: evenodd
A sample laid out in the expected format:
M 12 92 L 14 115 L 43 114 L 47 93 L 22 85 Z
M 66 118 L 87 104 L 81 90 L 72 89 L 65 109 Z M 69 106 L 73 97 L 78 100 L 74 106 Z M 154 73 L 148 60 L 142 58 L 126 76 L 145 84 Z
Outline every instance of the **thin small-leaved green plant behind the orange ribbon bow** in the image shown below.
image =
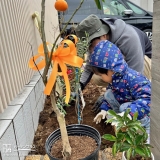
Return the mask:
M 84 54 L 87 53 L 88 44 L 89 44 L 88 43 L 88 34 L 86 33 L 86 37 L 83 37 L 81 39 L 79 38 L 78 43 L 76 45 L 77 55 L 79 57 L 84 59 Z M 81 68 L 77 68 L 77 67 L 73 67 L 73 66 L 68 65 L 68 73 L 67 74 L 68 74 L 68 77 L 70 80 L 71 92 L 75 93 L 76 95 L 79 95 L 78 90 L 80 88 L 79 82 L 80 82 L 81 73 L 82 73 Z M 65 103 L 66 86 L 65 86 L 65 82 L 64 82 L 64 79 L 62 76 L 57 76 L 57 83 L 63 88 L 63 91 L 62 91 L 62 95 L 60 95 L 57 92 L 56 104 L 57 104 L 57 107 L 59 108 L 59 110 L 65 115 L 67 113 L 66 113 L 64 107 L 69 107 L 70 104 Z M 75 101 L 75 109 L 76 109 L 77 114 L 78 114 L 78 112 L 79 112 L 79 114 L 82 114 L 83 107 L 81 107 L 81 105 L 79 106 L 79 100 L 78 100 L 79 98 L 80 98 L 79 96 L 73 97 L 71 94 L 70 102 Z M 78 106 L 79 106 L 79 111 L 77 111 Z M 81 117 L 81 115 L 79 115 L 79 116 Z

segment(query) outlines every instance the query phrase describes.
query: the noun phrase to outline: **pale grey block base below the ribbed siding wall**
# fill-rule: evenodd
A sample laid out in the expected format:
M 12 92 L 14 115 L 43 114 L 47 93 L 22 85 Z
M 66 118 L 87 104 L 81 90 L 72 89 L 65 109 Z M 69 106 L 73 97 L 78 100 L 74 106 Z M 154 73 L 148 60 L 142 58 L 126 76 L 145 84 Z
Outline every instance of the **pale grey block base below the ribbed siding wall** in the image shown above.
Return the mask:
M 36 73 L 23 91 L 0 114 L 0 160 L 24 160 L 32 148 L 45 95 Z

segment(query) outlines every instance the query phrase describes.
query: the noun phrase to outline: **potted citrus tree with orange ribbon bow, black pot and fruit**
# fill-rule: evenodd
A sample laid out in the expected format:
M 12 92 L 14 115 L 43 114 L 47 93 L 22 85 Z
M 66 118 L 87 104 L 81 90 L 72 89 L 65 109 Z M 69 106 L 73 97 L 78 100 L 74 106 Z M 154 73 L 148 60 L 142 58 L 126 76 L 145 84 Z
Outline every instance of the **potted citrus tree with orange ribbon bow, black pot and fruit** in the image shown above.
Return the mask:
M 46 41 L 45 36 L 45 0 L 42 0 L 42 11 L 41 11 L 41 19 L 37 12 L 35 12 L 32 15 L 32 18 L 35 21 L 36 27 L 39 30 L 42 44 L 38 48 L 38 54 L 33 55 L 33 57 L 29 61 L 29 67 L 33 70 L 37 70 L 39 74 L 42 77 L 43 83 L 45 85 L 44 93 L 46 95 L 50 96 L 51 104 L 53 111 L 56 114 L 57 121 L 59 124 L 59 129 L 53 132 L 46 141 L 46 152 L 50 159 L 57 159 L 51 155 L 51 148 L 55 144 L 56 141 L 58 141 L 60 138 L 62 139 L 62 150 L 61 154 L 63 155 L 63 159 L 69 159 L 71 156 L 71 145 L 69 142 L 69 136 L 70 135 L 77 135 L 77 136 L 87 136 L 95 139 L 96 148 L 90 155 L 86 156 L 86 159 L 88 160 L 97 160 L 98 159 L 98 151 L 101 144 L 101 137 L 99 132 L 87 125 L 82 124 L 75 124 L 66 126 L 65 123 L 65 111 L 63 110 L 64 102 L 65 104 L 68 104 L 70 100 L 70 81 L 68 79 L 67 75 L 67 68 L 68 66 L 73 66 L 76 68 L 80 68 L 83 60 L 77 55 L 76 51 L 76 44 L 77 44 L 77 37 L 71 36 L 71 37 L 65 37 L 59 45 L 57 45 L 57 42 L 59 38 L 61 38 L 61 35 L 67 28 L 67 25 L 70 23 L 71 19 L 73 18 L 74 14 L 78 11 L 78 9 L 81 7 L 84 0 L 81 0 L 79 7 L 75 10 L 73 15 L 70 17 L 69 21 L 65 25 L 65 27 L 62 29 L 60 34 L 56 37 L 53 45 L 50 45 L 49 42 Z M 68 8 L 68 4 L 65 0 L 56 0 L 55 2 L 55 9 L 57 11 L 65 11 Z M 49 47 L 49 45 L 51 47 Z M 39 58 L 42 57 L 40 60 Z M 37 59 L 39 59 L 37 63 Z M 44 68 L 43 74 L 39 70 Z M 50 76 L 49 71 L 51 71 Z M 78 72 L 80 73 L 80 72 Z M 66 92 L 66 94 L 59 97 L 57 96 L 56 92 L 56 82 L 58 81 L 58 77 L 60 79 L 64 80 L 65 88 L 63 88 L 63 92 Z M 77 81 L 76 81 L 77 83 Z M 77 83 L 78 84 L 78 83 Z M 76 89 L 76 92 L 78 93 L 78 87 Z M 85 158 L 85 157 L 84 157 Z

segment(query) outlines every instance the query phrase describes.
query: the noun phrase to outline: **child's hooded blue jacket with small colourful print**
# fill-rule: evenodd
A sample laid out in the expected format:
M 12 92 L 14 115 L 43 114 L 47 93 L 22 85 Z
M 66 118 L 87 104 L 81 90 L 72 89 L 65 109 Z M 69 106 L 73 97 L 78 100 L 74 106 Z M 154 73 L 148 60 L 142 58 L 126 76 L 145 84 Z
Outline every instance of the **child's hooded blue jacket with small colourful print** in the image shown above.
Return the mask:
M 134 56 L 134 55 L 133 55 Z M 90 65 L 114 71 L 111 89 L 116 100 L 123 104 L 132 102 L 128 108 L 133 116 L 138 111 L 138 119 L 150 115 L 151 83 L 141 73 L 128 67 L 119 48 L 109 41 L 101 41 L 90 56 Z M 111 109 L 104 100 L 101 110 Z

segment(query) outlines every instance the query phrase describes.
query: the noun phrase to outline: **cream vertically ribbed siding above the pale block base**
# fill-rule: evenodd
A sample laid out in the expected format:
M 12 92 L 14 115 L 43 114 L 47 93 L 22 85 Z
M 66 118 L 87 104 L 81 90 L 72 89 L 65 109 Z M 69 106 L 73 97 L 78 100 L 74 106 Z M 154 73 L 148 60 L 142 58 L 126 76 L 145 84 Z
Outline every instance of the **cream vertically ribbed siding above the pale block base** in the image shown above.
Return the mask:
M 46 39 L 53 43 L 59 33 L 55 0 L 46 0 Z M 0 113 L 10 104 L 27 84 L 33 71 L 28 61 L 41 43 L 39 32 L 31 15 L 41 14 L 41 0 L 1 0 L 0 1 Z

